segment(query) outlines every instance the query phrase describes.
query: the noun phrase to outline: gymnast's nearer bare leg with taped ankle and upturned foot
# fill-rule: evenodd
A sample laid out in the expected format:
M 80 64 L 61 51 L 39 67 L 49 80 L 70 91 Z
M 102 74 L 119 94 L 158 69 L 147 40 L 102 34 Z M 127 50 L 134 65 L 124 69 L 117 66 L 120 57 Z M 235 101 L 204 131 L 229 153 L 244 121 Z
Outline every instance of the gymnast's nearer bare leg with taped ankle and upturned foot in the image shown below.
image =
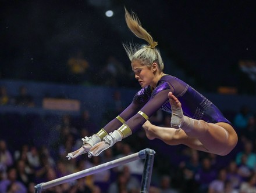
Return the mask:
M 207 123 L 184 116 L 180 101 L 171 92 L 168 97 L 172 106 L 172 127 L 181 128 L 188 137 L 197 138 L 211 153 L 227 155 L 233 150 L 237 144 L 237 134 L 231 125 L 223 122 Z

